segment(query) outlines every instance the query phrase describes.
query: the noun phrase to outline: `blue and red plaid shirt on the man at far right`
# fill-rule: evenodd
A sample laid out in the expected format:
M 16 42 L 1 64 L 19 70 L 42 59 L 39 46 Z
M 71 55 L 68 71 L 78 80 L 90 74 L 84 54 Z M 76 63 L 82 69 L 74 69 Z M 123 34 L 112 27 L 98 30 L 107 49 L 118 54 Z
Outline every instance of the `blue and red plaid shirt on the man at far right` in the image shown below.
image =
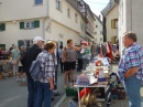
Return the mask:
M 143 47 L 136 42 L 125 50 L 124 55 L 120 60 L 118 72 L 121 82 L 124 82 L 124 73 L 132 67 L 139 67 L 135 76 L 143 83 Z

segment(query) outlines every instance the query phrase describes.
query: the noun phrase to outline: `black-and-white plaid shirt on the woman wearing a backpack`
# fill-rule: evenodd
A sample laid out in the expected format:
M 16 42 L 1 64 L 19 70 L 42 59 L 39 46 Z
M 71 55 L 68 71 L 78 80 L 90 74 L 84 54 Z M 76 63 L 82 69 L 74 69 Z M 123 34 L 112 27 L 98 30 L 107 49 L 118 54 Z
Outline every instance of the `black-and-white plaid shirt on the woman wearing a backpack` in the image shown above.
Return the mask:
M 44 71 L 43 78 L 38 79 L 42 83 L 48 83 L 48 78 L 55 78 L 55 67 L 52 54 L 47 51 L 43 51 L 38 54 L 37 60 L 40 61 L 41 68 Z

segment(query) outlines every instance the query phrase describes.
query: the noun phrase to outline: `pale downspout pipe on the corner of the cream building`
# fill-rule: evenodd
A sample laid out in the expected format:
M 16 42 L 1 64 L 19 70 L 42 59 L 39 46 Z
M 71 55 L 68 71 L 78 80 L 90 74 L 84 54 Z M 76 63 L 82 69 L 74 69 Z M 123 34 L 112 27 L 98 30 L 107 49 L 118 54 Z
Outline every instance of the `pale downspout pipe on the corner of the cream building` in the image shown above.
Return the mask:
M 43 39 L 45 40 L 45 21 L 50 18 L 50 0 L 46 2 L 46 17 L 43 20 Z

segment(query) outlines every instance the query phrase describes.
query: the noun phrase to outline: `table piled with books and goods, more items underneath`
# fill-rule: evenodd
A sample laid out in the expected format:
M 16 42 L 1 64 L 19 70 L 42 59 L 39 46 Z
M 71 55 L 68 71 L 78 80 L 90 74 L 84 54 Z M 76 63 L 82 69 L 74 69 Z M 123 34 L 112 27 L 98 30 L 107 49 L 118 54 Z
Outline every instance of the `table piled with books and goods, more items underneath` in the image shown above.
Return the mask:
M 107 57 L 95 57 L 86 67 L 74 86 L 78 90 L 78 105 L 81 107 L 95 107 L 99 101 L 105 101 L 108 106 L 111 89 L 109 84 L 109 73 L 111 66 Z

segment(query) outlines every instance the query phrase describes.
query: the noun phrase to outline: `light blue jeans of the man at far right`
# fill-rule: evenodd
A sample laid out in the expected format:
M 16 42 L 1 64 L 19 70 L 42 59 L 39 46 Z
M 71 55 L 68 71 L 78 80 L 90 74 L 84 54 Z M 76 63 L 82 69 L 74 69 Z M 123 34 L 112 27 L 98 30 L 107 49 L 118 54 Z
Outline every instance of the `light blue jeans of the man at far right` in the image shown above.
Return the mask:
M 141 82 L 133 75 L 129 78 L 124 78 L 124 85 L 130 100 L 130 107 L 141 107 Z

